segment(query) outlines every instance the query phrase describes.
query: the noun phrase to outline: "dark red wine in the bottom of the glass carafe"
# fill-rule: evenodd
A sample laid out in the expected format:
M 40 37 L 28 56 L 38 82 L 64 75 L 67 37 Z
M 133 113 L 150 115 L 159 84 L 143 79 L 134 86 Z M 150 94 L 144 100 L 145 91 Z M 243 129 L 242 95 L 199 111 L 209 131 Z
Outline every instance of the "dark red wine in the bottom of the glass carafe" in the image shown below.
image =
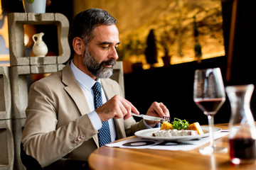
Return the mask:
M 230 159 L 234 164 L 253 163 L 256 158 L 255 140 L 252 138 L 234 138 L 229 140 Z M 235 161 L 234 161 L 235 160 Z M 238 161 L 239 160 L 239 161 Z

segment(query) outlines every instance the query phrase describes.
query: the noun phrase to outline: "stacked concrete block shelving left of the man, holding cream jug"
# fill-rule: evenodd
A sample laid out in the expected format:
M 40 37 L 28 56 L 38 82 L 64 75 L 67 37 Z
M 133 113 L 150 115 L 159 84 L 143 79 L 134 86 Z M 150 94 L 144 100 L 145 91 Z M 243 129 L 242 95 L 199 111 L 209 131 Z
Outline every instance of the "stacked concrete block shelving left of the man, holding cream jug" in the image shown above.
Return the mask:
M 26 57 L 23 28 L 26 24 L 55 25 L 58 34 L 58 56 Z M 8 29 L 11 67 L 0 67 L 0 83 L 4 84 L 6 89 L 0 91 L 0 94 L 4 93 L 1 100 L 4 101 L 5 110 L 8 110 L 0 111 L 0 144 L 7 146 L 1 150 L 3 154 L 0 156 L 0 170 L 25 169 L 19 155 L 22 130 L 26 121 L 25 110 L 28 105 L 28 75 L 58 72 L 70 58 L 69 23 L 61 13 L 9 13 Z M 1 73 L 4 76 L 1 76 Z

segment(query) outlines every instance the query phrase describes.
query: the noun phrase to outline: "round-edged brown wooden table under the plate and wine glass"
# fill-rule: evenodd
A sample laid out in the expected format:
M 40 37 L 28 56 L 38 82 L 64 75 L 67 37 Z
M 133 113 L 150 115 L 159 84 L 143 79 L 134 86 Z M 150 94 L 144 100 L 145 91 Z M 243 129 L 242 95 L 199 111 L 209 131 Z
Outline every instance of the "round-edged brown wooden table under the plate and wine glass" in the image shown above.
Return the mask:
M 228 124 L 215 125 L 223 130 L 228 129 Z M 127 137 L 123 140 L 131 139 Z M 120 140 L 119 140 L 120 141 Z M 215 144 L 228 147 L 228 136 L 215 140 Z M 208 145 L 208 144 L 207 144 Z M 89 157 L 91 169 L 256 169 L 255 164 L 233 165 L 230 163 L 228 153 L 203 155 L 197 149 L 191 151 L 169 151 L 155 149 L 126 149 L 116 147 L 100 147 Z

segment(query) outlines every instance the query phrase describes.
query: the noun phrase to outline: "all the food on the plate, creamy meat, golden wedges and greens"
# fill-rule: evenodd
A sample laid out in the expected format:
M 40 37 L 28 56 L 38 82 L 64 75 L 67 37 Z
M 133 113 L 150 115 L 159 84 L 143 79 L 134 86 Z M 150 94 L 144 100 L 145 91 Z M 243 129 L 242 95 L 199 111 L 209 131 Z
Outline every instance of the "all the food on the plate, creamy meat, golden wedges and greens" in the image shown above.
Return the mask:
M 203 130 L 198 122 L 192 123 L 188 121 L 174 118 L 172 123 L 164 122 L 159 131 L 152 135 L 155 137 L 177 137 L 189 135 L 203 135 Z

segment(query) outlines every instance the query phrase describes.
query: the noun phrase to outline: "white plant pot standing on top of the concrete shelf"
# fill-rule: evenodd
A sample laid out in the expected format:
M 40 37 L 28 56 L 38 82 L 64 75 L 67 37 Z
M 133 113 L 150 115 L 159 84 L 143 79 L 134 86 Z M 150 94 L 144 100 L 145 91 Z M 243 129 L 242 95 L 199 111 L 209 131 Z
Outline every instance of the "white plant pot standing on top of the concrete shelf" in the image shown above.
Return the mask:
M 22 0 L 26 13 L 46 13 L 46 0 Z

